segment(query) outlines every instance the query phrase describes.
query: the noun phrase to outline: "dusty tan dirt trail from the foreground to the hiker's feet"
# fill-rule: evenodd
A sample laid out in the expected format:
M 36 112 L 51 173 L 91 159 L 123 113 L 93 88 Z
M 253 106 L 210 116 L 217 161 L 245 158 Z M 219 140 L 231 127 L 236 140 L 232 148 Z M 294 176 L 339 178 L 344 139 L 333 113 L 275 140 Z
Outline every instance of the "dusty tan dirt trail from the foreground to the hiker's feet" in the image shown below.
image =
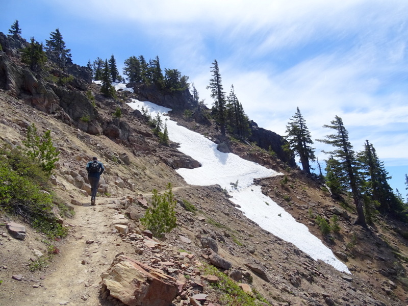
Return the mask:
M 109 305 L 99 300 L 100 274 L 108 269 L 122 243 L 119 235 L 112 233 L 111 224 L 117 214 L 112 200 L 100 200 L 97 206 L 84 201 L 83 206 L 75 207 L 75 217 L 68 220 L 72 227 L 67 240 L 46 270 L 41 286 L 14 297 L 13 304 Z

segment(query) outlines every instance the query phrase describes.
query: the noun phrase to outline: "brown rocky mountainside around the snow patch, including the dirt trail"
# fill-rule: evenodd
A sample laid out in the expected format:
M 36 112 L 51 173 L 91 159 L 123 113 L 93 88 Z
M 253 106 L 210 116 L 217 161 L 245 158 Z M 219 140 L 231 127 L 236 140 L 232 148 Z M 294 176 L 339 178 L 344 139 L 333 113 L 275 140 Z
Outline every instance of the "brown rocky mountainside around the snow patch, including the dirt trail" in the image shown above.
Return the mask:
M 378 218 L 368 230 L 355 226 L 347 198 L 341 204 L 318 182 L 297 170 L 287 172 L 285 163 L 265 151 L 227 142 L 211 124 L 172 114 L 214 141 L 226 141 L 241 157 L 283 172 L 285 181 L 273 177 L 256 183 L 333 249 L 352 275 L 340 273 L 248 220 L 219 186 L 186 185 L 174 169 L 196 167 L 196 161 L 180 154 L 176 144 L 159 144 L 143 116 L 125 104 L 139 96 L 118 92 L 117 100 L 106 99 L 97 85 L 74 80 L 57 86 L 23 67 L 18 54 L 0 52 L 0 139 L 21 144 L 33 122 L 41 132 L 52 131 L 61 152 L 52 183 L 75 212 L 63 221 L 68 237 L 51 242 L 58 251 L 44 263 L 48 267 L 39 264 L 50 244 L 45 236 L 17 216 L 1 215 L 1 305 L 224 305 L 223 277 L 241 284 L 230 296 L 252 295 L 260 305 L 408 303 L 406 224 Z M 112 116 L 116 107 L 121 118 Z M 81 120 L 84 116 L 89 120 Z M 107 168 L 96 207 L 90 206 L 84 171 L 92 156 Z M 139 219 L 152 189 L 161 191 L 168 182 L 177 199 L 177 227 L 159 240 L 144 232 Z M 337 215 L 340 232 L 323 237 L 317 215 Z M 11 221 L 25 226 L 25 239 L 7 230 Z M 30 272 L 30 263 L 41 269 Z M 162 292 L 174 298 L 166 301 Z

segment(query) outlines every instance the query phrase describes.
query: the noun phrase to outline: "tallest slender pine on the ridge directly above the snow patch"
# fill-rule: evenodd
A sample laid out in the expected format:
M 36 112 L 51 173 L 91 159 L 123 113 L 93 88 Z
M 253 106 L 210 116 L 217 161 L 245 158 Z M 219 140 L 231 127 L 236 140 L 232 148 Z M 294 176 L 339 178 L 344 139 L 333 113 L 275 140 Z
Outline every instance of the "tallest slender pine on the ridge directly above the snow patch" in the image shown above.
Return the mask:
M 225 135 L 225 92 L 221 84 L 221 74 L 217 60 L 214 60 L 212 64 L 213 78 L 210 79 L 210 85 L 207 86 L 207 89 L 211 89 L 211 97 L 214 99 L 214 113 L 216 121 L 220 125 L 221 135 Z

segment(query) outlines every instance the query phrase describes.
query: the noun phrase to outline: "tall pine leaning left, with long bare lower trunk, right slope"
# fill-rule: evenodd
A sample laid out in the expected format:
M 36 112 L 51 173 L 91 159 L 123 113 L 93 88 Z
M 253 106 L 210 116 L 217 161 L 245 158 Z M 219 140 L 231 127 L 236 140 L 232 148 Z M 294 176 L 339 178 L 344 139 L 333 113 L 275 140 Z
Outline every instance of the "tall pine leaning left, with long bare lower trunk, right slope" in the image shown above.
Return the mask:
M 364 216 L 363 198 L 358 188 L 358 177 L 356 158 L 353 147 L 348 140 L 348 132 L 343 125 L 343 120 L 336 116 L 335 120 L 331 121 L 331 125 L 323 125 L 328 129 L 333 129 L 336 134 L 325 136 L 327 139 L 318 140 L 325 144 L 330 144 L 336 147 L 334 151 L 323 151 L 326 154 L 333 156 L 333 159 L 338 162 L 336 165 L 337 179 L 341 182 L 343 188 L 350 188 L 354 200 L 354 205 L 357 210 L 358 219 L 356 224 L 366 227 L 366 220 Z

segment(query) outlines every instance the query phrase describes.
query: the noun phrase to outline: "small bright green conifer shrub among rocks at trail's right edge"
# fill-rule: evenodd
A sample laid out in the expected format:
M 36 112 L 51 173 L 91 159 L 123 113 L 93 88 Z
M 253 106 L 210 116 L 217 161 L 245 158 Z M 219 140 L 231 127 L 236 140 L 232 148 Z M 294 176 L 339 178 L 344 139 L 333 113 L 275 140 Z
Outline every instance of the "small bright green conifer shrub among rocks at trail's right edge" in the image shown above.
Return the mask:
M 158 194 L 156 189 L 152 193 L 151 207 L 146 210 L 144 217 L 140 221 L 153 235 L 161 237 L 163 233 L 169 233 L 176 227 L 176 201 L 173 198 L 170 183 L 167 185 L 164 194 Z

